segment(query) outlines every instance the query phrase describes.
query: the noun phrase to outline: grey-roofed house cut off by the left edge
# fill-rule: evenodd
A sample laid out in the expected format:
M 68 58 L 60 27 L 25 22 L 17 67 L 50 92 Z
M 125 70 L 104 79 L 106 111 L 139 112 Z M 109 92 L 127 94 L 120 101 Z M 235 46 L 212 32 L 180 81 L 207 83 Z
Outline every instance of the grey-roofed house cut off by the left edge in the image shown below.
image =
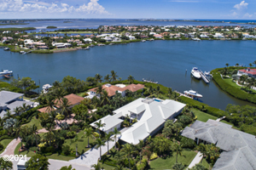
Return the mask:
M 23 99 L 24 94 L 1 91 L 0 92 L 0 117 L 10 111 L 12 115 L 15 115 L 15 108 L 22 107 L 24 104 L 28 106 L 28 109 L 33 107 L 34 102 L 26 101 Z

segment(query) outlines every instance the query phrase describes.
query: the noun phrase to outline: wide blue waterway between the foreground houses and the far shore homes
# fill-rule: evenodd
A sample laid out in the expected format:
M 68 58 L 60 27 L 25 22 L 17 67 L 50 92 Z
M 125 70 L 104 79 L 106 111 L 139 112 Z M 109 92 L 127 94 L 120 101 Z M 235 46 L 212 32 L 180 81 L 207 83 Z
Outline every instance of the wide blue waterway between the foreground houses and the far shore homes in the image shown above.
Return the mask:
M 228 104 L 252 104 L 224 93 L 214 82 L 207 85 L 191 78 L 190 70 L 197 66 L 201 71 L 211 71 L 226 63 L 248 65 L 255 60 L 255 45 L 255 41 L 154 41 L 25 55 L 0 49 L 0 69 L 14 71 L 15 78 L 19 74 L 37 83 L 40 80 L 41 86 L 67 75 L 85 80 L 96 73 L 104 77 L 113 70 L 123 79 L 129 75 L 137 80 L 154 78 L 180 92 L 191 88 L 203 95 L 202 102 L 224 110 Z

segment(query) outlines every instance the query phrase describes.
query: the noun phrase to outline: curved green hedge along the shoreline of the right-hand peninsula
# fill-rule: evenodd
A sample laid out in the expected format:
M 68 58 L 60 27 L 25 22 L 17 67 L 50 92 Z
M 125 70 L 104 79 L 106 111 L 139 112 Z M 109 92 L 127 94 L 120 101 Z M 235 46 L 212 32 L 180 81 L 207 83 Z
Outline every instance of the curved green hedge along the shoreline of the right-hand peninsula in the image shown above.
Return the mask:
M 233 67 L 230 67 L 231 69 Z M 242 69 L 245 67 L 235 67 L 236 69 Z M 248 101 L 251 103 L 256 104 L 256 95 L 254 94 L 247 94 L 246 92 L 242 91 L 239 88 L 230 86 L 227 82 L 224 82 L 222 77 L 220 76 L 220 73 L 218 71 L 221 71 L 222 69 L 215 69 L 211 71 L 213 75 L 213 80 L 218 84 L 219 88 L 230 94 L 231 96 L 235 97 L 236 99 L 241 99 L 244 101 Z

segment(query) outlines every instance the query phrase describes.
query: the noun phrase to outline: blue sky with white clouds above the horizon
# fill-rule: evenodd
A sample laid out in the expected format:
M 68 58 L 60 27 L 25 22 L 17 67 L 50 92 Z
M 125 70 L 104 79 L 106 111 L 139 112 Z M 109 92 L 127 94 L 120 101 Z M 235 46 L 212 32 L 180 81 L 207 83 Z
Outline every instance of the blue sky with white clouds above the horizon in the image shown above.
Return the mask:
M 256 20 L 256 0 L 0 0 L 0 19 Z

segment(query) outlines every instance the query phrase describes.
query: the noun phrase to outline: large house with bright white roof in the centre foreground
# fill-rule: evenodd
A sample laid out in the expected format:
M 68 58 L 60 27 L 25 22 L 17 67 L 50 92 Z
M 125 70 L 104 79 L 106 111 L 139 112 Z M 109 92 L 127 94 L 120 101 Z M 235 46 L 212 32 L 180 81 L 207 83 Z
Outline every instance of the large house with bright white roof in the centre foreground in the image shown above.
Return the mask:
M 120 140 L 124 143 L 138 144 L 139 140 L 145 140 L 148 136 L 159 132 L 164 127 L 166 120 L 174 119 L 184 106 L 184 104 L 171 99 L 139 98 L 113 111 L 113 116 L 103 117 L 102 122 L 106 125 L 100 130 L 109 133 L 113 131 L 114 127 L 120 129 L 125 116 L 129 116 L 130 122 L 133 120 L 137 120 L 137 122 L 131 127 L 121 130 Z M 95 122 L 90 126 L 96 127 Z

